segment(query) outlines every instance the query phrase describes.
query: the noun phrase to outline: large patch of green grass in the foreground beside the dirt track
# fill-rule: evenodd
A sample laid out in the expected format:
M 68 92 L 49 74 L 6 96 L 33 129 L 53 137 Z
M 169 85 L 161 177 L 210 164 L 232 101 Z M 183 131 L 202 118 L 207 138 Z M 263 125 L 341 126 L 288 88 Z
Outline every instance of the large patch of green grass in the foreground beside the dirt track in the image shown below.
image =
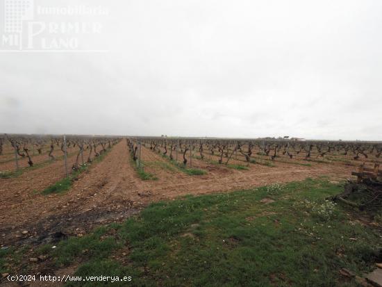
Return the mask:
M 158 202 L 44 252 L 60 267 L 81 262 L 76 276 L 123 274 L 133 286 L 358 286 L 338 271 L 371 270 L 381 238 L 347 206 L 326 202 L 341 190 L 307 179 Z

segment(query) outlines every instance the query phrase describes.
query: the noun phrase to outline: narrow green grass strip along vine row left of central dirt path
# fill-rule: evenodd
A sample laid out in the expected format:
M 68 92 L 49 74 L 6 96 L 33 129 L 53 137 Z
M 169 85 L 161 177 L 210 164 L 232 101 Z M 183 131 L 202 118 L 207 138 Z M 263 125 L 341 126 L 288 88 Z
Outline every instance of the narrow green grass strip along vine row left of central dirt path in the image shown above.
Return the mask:
M 60 181 L 57 181 L 56 183 L 53 183 L 51 186 L 48 186 L 42 191 L 43 195 L 50 195 L 51 193 L 60 193 L 65 192 L 72 188 L 73 182 L 78 179 L 78 176 L 88 170 L 91 165 L 94 165 L 96 163 L 99 163 L 100 161 L 105 158 L 106 154 L 109 153 L 111 149 L 107 149 L 105 152 L 100 154 L 99 156 L 95 157 L 92 161 L 92 163 L 84 163 L 83 165 L 80 165 L 78 170 L 73 171 L 71 174 L 69 174 L 69 177 L 65 177 L 64 179 L 61 179 Z

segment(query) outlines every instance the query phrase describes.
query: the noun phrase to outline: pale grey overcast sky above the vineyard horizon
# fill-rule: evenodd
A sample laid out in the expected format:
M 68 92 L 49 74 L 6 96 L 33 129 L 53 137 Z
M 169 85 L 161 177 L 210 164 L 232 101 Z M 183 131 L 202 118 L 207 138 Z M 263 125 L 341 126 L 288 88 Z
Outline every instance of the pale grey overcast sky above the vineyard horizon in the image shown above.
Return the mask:
M 0 53 L 0 132 L 382 140 L 380 0 L 70 3 L 108 51 Z

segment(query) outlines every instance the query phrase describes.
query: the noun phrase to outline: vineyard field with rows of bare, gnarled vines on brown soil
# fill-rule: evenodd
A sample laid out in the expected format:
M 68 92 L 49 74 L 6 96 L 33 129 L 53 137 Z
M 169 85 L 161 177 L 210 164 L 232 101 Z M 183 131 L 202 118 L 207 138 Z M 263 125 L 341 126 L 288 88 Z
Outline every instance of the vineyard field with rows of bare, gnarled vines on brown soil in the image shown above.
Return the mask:
M 188 194 L 226 192 L 306 177 L 345 179 L 361 163 L 381 163 L 381 144 L 377 142 L 69 136 L 69 172 L 92 163 L 99 154 L 105 155 L 80 173 L 67 192 L 43 195 L 43 190 L 66 176 L 63 145 L 63 136 L 2 138 L 0 231 L 6 232 L 8 240 L 15 240 L 19 230 L 43 226 L 47 216 L 60 221 L 58 215 L 75 217 L 92 211 L 102 219 L 112 210 L 129 213 L 150 202 Z M 195 171 L 201 174 L 193 175 Z M 142 179 L 142 174 L 152 178 Z M 78 228 L 72 222 L 65 224 L 67 233 Z M 88 224 L 82 225 L 88 228 Z M 9 232 L 11 229 L 14 232 Z

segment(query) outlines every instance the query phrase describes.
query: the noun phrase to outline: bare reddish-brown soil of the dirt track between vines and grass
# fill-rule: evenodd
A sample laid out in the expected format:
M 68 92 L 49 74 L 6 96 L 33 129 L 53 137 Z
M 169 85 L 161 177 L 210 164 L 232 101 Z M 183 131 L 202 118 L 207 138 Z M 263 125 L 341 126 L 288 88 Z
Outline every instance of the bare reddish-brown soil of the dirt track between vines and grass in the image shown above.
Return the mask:
M 69 167 L 74 159 L 69 159 Z M 44 196 L 36 192 L 64 177 L 62 162 L 24 172 L 16 179 L 0 179 L 0 245 L 59 240 L 58 232 L 78 236 L 97 224 L 124 220 L 150 202 L 162 199 L 321 175 L 337 180 L 349 177 L 354 169 L 320 163 L 311 163 L 311 166 L 277 163 L 276 167 L 251 164 L 249 170 L 234 170 L 192 159 L 194 167 L 203 168 L 208 174 L 189 176 L 145 147 L 142 147 L 142 161 L 145 170 L 155 174 L 158 180 L 138 178 L 124 140 L 115 145 L 103 161 L 83 172 L 72 189 L 63 194 Z M 181 161 L 179 154 L 178 161 Z M 24 230 L 28 231 L 26 235 L 22 234 Z

